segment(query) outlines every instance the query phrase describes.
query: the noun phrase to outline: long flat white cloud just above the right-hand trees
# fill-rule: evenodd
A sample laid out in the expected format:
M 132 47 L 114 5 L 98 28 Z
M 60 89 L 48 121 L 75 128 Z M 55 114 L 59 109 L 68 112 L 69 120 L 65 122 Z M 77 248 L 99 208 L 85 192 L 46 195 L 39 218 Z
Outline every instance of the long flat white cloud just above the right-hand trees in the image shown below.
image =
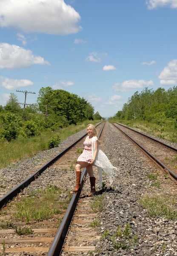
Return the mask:
M 128 92 L 131 90 L 134 90 L 134 88 L 142 88 L 143 86 L 153 86 L 154 82 L 152 80 L 146 81 L 146 80 L 126 80 L 123 81 L 123 83 L 115 83 L 112 87 L 112 90 L 114 92 Z

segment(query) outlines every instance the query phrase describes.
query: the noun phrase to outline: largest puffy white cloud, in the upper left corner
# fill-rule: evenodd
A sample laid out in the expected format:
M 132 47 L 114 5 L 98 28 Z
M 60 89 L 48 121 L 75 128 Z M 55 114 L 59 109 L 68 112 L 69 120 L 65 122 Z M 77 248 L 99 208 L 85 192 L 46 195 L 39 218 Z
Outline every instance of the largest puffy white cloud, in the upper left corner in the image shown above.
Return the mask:
M 79 13 L 64 0 L 0 0 L 1 27 L 68 35 L 82 29 L 79 21 Z

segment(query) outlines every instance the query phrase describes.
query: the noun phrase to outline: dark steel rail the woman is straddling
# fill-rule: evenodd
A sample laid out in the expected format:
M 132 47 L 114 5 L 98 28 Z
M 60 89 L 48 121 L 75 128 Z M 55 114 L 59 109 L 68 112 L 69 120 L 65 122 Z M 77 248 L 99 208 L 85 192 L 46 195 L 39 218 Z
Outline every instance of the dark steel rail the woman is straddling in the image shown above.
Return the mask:
M 105 125 L 105 123 L 103 124 L 103 127 L 100 131 L 98 138 L 100 138 L 100 135 L 103 131 L 104 125 Z M 49 252 L 48 252 L 47 256 L 59 256 L 62 251 L 62 247 L 63 247 L 64 241 L 65 241 L 66 235 L 68 233 L 69 225 L 71 224 L 71 220 L 72 220 L 73 214 L 75 212 L 75 208 L 77 206 L 86 175 L 87 175 L 87 170 L 85 168 L 83 171 L 83 174 L 81 176 L 81 181 L 80 181 L 81 189 L 80 189 L 80 191 L 74 193 L 74 195 L 72 196 L 69 207 L 66 210 L 66 213 L 65 213 L 63 220 L 60 224 L 60 227 L 57 230 L 57 233 L 54 237 L 51 247 L 49 248 Z

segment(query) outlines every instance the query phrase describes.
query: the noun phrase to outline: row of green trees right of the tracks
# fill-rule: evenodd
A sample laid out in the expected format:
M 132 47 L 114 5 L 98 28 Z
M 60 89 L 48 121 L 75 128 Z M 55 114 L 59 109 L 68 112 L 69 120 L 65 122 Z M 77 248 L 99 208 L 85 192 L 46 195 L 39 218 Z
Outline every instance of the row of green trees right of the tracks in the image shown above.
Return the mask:
M 177 86 L 165 90 L 144 88 L 135 92 L 112 119 L 145 120 L 177 128 Z

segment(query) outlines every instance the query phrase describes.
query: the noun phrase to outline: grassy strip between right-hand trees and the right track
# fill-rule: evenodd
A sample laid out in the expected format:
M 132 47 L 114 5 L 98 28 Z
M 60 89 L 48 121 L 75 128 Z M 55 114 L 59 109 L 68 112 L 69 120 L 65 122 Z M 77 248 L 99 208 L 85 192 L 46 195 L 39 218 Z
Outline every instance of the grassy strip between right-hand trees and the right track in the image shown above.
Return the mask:
M 166 127 L 140 120 L 109 120 L 109 122 L 119 122 L 132 128 L 139 128 L 150 135 L 152 134 L 162 139 L 177 143 L 177 132 L 173 127 Z

